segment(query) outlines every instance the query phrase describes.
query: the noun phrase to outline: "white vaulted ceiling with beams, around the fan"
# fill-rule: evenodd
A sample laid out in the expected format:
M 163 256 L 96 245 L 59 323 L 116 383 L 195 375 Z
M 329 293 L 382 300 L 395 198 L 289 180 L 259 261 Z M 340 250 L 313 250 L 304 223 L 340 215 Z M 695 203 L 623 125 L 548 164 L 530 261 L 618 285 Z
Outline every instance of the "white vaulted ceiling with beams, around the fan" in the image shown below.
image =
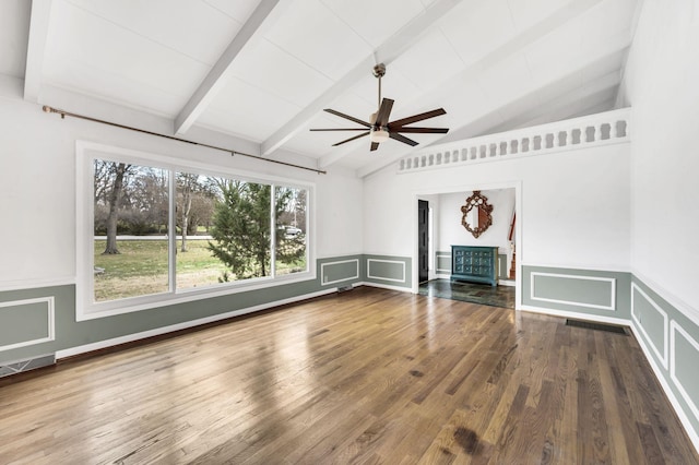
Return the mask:
M 367 176 L 429 144 L 614 108 L 639 1 L 2 0 L 0 74 L 29 102 L 108 103 Z M 323 108 L 369 119 L 378 62 L 392 120 L 443 107 L 419 126 L 450 132 L 375 152 L 310 132 L 356 127 Z

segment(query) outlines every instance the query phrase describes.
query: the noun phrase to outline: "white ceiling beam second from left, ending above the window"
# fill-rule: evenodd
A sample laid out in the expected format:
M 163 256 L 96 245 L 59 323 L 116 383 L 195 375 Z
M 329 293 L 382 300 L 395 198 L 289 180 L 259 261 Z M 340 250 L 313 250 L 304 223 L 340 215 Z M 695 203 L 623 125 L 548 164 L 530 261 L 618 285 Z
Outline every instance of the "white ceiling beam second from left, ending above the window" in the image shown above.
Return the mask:
M 262 0 L 260 2 L 175 118 L 176 133 L 183 134 L 192 127 L 218 91 L 226 85 L 233 62 L 240 51 L 252 40 L 260 39 L 289 3 L 291 0 Z

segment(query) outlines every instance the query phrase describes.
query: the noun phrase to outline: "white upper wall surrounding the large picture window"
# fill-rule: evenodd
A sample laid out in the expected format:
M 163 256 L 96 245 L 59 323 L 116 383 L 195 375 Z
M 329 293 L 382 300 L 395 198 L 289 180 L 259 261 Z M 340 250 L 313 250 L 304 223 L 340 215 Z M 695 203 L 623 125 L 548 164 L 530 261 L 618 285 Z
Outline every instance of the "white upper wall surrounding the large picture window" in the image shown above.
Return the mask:
M 76 140 L 315 182 L 317 255 L 363 251 L 363 186 L 354 172 L 317 175 L 95 122 L 61 120 L 23 102 L 22 86 L 21 80 L 0 76 L 0 288 L 74 282 Z M 100 115 L 105 117 L 109 119 Z M 221 136 L 199 141 L 239 147 Z M 300 163 L 315 166 L 311 159 Z

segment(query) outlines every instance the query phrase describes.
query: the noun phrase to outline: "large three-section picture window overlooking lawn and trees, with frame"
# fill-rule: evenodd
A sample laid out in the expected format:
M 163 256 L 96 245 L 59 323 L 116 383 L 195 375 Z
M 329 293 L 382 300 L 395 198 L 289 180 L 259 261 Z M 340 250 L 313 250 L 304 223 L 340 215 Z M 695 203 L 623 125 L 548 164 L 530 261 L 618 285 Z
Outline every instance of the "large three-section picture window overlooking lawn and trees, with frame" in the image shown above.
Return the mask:
M 84 313 L 312 277 L 309 186 L 106 155 L 79 150 Z

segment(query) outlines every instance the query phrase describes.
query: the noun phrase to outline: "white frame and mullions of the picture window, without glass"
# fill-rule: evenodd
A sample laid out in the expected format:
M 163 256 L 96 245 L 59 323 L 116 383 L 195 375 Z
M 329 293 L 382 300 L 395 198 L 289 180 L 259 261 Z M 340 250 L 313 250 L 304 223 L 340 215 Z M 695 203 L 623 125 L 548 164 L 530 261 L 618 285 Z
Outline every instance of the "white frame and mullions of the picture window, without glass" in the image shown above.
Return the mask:
M 128 297 L 103 302 L 94 301 L 94 160 L 104 159 L 111 162 L 127 162 L 168 170 L 168 290 L 166 293 L 152 294 L 138 297 Z M 185 160 L 173 156 L 158 155 L 149 152 L 135 151 L 114 145 L 100 144 L 88 141 L 75 142 L 75 255 L 76 255 L 76 285 L 75 285 L 75 317 L 78 321 L 92 320 L 116 314 L 149 310 L 157 307 L 171 306 L 189 301 L 202 300 L 213 297 L 233 295 L 242 291 L 263 289 L 282 284 L 291 284 L 316 279 L 316 219 L 313 207 L 316 204 L 316 184 L 298 179 L 282 178 L 277 176 L 260 175 L 250 171 L 238 170 L 229 167 L 216 166 L 200 162 Z M 270 240 L 272 258 L 272 275 L 249 279 L 220 283 L 212 286 L 182 288 L 176 286 L 176 204 L 175 175 L 178 171 L 193 172 L 202 176 L 226 177 L 246 182 L 258 182 L 272 187 L 272 202 L 270 202 L 271 227 L 273 229 Z M 285 275 L 275 275 L 276 261 L 275 248 L 275 218 L 274 218 L 274 188 L 276 186 L 303 189 L 308 192 L 306 204 L 306 271 Z

